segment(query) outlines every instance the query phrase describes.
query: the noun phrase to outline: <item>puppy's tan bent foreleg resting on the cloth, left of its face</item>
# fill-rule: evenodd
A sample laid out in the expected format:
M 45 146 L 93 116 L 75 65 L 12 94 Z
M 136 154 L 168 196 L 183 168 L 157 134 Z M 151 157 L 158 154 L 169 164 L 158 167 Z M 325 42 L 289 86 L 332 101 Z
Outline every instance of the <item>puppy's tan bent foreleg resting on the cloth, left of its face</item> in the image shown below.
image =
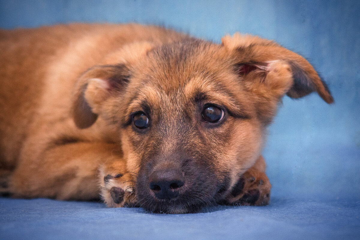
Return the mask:
M 131 195 L 128 188 L 132 185 L 122 157 L 117 145 L 102 142 L 70 142 L 39 154 L 29 153 L 10 177 L 10 194 L 22 198 L 99 199 L 100 190 L 103 192 L 106 186 L 105 177 L 111 186 L 124 191 L 124 201 L 116 205 L 121 207 Z M 116 173 L 116 182 L 106 177 L 112 173 Z

